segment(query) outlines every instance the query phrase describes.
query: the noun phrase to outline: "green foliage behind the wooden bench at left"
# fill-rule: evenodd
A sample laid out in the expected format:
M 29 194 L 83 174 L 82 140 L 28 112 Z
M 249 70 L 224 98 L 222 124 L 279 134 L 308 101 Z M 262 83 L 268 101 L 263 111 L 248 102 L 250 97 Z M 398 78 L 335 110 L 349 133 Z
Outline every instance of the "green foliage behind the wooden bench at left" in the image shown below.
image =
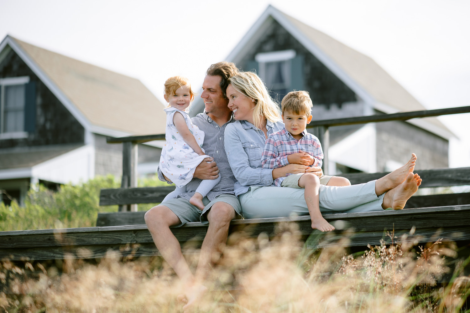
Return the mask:
M 157 178 L 139 182 L 140 187 L 163 186 Z M 16 201 L 11 206 L 0 203 L 0 231 L 23 229 L 56 229 L 92 227 L 98 212 L 117 212 L 118 206 L 99 206 L 100 190 L 119 188 L 114 176 L 97 176 L 78 185 L 65 184 L 59 191 L 50 191 L 39 185 L 39 190 L 30 189 L 24 206 Z M 148 210 L 155 204 L 139 205 L 139 210 Z

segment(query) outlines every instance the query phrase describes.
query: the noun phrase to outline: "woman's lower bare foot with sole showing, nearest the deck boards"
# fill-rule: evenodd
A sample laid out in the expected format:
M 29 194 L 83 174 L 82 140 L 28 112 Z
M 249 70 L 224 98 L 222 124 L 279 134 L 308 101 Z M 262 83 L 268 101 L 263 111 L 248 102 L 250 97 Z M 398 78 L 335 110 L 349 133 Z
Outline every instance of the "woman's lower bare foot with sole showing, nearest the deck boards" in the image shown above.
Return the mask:
M 418 174 L 409 173 L 403 183 L 400 183 L 397 187 L 385 193 L 382 208 L 386 209 L 391 207 L 394 210 L 404 208 L 407 200 L 418 190 L 421 181 Z

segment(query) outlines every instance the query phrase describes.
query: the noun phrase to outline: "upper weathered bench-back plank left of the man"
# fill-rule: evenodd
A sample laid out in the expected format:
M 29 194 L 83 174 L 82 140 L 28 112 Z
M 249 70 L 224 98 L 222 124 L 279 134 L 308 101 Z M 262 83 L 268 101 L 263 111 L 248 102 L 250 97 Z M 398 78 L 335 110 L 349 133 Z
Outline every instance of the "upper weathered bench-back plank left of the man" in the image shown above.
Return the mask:
M 100 206 L 162 202 L 174 190 L 174 186 L 102 189 Z

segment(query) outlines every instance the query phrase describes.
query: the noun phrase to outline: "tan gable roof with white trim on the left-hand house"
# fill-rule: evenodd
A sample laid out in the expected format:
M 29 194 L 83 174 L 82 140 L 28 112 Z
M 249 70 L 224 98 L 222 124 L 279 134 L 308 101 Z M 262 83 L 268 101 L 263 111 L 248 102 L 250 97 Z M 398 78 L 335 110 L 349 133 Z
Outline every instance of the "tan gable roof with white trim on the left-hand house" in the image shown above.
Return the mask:
M 163 134 L 163 104 L 138 79 L 72 59 L 7 36 L 9 46 L 72 115 L 107 136 Z

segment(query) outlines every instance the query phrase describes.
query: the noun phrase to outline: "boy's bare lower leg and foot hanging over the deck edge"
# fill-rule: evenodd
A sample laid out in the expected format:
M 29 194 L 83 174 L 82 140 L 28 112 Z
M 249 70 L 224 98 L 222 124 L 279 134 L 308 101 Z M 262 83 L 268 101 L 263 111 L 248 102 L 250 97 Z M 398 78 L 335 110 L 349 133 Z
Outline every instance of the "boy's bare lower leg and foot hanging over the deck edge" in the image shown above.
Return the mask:
M 305 173 L 300 176 L 298 186 L 305 189 L 305 202 L 307 203 L 308 213 L 312 219 L 312 228 L 321 231 L 331 231 L 335 229 L 333 225 L 321 216 L 318 196 L 320 180 L 318 176 L 313 173 Z

